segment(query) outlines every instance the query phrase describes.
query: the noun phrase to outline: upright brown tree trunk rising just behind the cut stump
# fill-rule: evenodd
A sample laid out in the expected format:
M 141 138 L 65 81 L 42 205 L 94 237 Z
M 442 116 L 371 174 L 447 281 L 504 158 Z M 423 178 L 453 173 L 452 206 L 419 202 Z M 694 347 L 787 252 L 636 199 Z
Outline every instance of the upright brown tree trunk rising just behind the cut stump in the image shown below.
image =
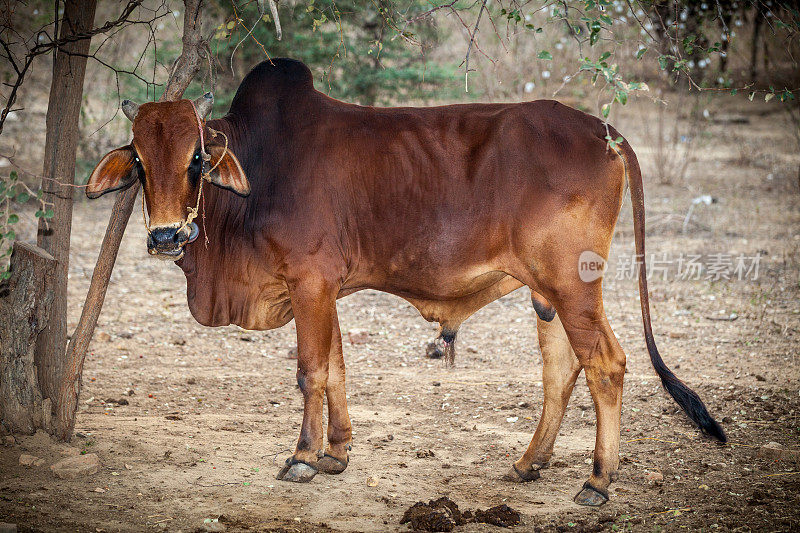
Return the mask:
M 66 0 L 60 38 L 69 38 L 93 27 L 96 0 Z M 44 147 L 42 190 L 44 200 L 53 204 L 55 216 L 39 220 L 39 246 L 55 258 L 50 279 L 53 301 L 45 329 L 36 339 L 35 361 L 42 396 L 58 403 L 58 388 L 64 373 L 67 342 L 67 273 L 69 237 L 72 230 L 72 193 L 75 182 L 75 154 L 78 122 L 90 39 L 64 45 L 56 51 L 53 82 L 47 106 L 47 135 Z M 79 55 L 73 55 L 79 54 Z

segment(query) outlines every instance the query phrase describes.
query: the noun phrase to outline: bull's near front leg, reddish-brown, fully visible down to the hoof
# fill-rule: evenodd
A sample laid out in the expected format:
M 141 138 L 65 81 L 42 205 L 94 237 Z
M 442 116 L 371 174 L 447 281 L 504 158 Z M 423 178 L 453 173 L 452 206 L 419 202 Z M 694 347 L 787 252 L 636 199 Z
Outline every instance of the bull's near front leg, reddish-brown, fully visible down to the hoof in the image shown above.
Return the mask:
M 277 475 L 283 481 L 310 481 L 317 474 L 322 457 L 322 406 L 328 383 L 336 293 L 333 284 L 319 279 L 304 279 L 289 286 L 297 328 L 297 384 L 304 403 L 297 447 Z

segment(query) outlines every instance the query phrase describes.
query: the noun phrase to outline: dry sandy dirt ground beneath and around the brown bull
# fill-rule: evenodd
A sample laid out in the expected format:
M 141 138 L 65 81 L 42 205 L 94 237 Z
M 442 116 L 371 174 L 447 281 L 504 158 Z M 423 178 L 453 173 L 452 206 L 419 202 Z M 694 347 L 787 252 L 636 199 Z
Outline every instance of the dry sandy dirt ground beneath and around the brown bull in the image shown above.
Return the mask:
M 800 155 L 777 106 L 728 102 L 710 108 L 687 176 L 669 185 L 653 178 L 654 147 L 643 140 L 652 105 L 618 121 L 648 173 L 649 252 L 760 254 L 757 280 L 651 280 L 661 353 L 722 421 L 728 445 L 690 425 L 650 366 L 636 283 L 613 270 L 633 254 L 626 200 L 605 281 L 606 309 L 628 355 L 622 463 L 608 504 L 572 502 L 594 442 L 583 378 L 551 467 L 530 484 L 500 480 L 541 408 L 525 290 L 464 324 L 452 369 L 425 358 L 435 325 L 403 300 L 372 291 L 341 300 L 350 466 L 305 485 L 276 481 L 301 422 L 294 324 L 253 332 L 195 323 L 183 274 L 147 257 L 134 212 L 87 357 L 77 433 L 69 444 L 37 434 L 0 447 L 0 522 L 20 531 L 194 531 L 205 519 L 228 531 L 404 531 L 409 506 L 448 496 L 462 509 L 507 504 L 522 515 L 520 531 L 797 531 Z M 696 206 L 684 233 L 701 194 L 715 202 Z M 70 327 L 110 206 L 76 206 Z M 786 448 L 782 458 L 759 452 L 770 442 Z M 99 455 L 97 474 L 53 477 L 47 465 L 85 452 Z M 20 466 L 21 453 L 45 464 Z

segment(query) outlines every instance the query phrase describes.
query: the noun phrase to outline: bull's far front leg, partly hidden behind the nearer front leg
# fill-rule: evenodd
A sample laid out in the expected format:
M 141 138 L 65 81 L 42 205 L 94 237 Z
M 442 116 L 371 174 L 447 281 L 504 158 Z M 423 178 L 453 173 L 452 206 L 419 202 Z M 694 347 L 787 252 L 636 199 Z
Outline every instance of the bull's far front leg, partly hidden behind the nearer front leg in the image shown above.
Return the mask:
M 340 474 L 347 468 L 352 426 L 350 415 L 347 413 L 342 334 L 335 313 L 325 395 L 328 399 L 328 446 L 325 455 L 317 462 L 317 468 L 326 474 Z

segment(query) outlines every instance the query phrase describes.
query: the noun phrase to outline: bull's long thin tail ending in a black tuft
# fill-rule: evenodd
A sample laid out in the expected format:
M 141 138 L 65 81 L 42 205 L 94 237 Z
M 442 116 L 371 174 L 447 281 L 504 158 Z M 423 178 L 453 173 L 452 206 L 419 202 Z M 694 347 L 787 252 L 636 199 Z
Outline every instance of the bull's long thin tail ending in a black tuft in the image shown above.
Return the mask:
M 650 298 L 647 292 L 647 265 L 644 252 L 644 190 L 642 188 L 642 172 L 636 154 L 627 141 L 614 147 L 614 151 L 622 159 L 625 167 L 625 177 L 631 190 L 631 204 L 633 205 L 633 234 L 636 243 L 636 256 L 641 261 L 639 264 L 639 300 L 642 305 L 642 322 L 644 323 L 644 338 L 647 351 L 650 352 L 650 362 L 653 364 L 661 383 L 672 398 L 681 406 L 700 429 L 707 435 L 720 442 L 728 439 L 725 432 L 716 420 L 708 413 L 705 404 L 692 389 L 672 373 L 661 354 L 658 353 L 656 341 L 653 339 L 653 328 L 650 325 Z

